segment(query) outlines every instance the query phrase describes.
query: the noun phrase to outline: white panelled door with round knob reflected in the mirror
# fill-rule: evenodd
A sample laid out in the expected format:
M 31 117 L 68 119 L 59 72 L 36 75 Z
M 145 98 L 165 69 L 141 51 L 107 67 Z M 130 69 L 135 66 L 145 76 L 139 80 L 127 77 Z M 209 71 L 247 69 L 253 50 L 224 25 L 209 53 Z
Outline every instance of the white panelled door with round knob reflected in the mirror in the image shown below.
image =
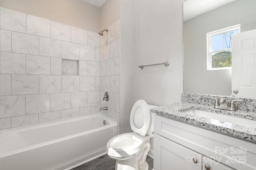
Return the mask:
M 232 36 L 232 95 L 256 98 L 256 29 Z

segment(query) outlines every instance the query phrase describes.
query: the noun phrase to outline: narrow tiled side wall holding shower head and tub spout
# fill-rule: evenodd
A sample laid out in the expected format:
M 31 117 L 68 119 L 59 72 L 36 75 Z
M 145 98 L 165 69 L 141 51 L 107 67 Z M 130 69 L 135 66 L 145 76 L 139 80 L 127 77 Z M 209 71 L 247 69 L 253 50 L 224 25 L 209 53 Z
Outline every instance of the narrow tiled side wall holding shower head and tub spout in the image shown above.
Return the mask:
M 102 98 L 109 92 L 108 102 Z M 120 123 L 120 19 L 108 27 L 108 33 L 100 36 L 100 107 L 108 106 L 103 114 Z

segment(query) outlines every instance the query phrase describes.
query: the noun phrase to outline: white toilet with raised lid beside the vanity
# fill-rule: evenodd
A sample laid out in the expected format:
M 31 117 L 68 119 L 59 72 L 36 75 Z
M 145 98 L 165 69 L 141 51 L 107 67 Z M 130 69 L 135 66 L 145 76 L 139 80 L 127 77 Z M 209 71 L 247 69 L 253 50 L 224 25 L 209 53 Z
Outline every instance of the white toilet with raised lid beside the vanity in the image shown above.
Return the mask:
M 156 106 L 138 100 L 130 115 L 133 132 L 117 135 L 108 141 L 106 153 L 116 160 L 116 170 L 148 170 L 146 157 L 154 130 L 154 113 L 150 113 L 153 107 Z

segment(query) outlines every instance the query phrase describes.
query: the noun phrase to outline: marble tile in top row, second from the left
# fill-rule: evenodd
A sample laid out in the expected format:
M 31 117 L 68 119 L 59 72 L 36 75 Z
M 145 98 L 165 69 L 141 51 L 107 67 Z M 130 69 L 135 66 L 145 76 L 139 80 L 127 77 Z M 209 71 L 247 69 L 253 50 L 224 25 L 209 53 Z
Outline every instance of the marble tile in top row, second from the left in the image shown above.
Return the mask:
M 49 37 L 51 35 L 51 21 L 32 16 L 27 14 L 26 20 L 26 33 L 32 35 L 38 35 L 42 37 Z

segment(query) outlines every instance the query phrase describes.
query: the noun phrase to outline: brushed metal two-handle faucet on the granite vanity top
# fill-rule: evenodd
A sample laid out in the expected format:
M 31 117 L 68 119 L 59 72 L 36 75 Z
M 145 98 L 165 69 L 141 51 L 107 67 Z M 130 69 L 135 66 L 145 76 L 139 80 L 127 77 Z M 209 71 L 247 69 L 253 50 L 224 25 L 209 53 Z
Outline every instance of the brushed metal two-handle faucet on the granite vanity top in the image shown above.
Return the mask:
M 209 99 L 215 100 L 213 108 L 215 109 L 223 109 L 223 110 L 230 110 L 230 111 L 236 111 L 235 102 L 243 102 L 243 100 L 233 100 L 230 102 L 230 105 L 228 106 L 225 99 L 221 98 L 220 100 L 216 98 L 208 97 Z

